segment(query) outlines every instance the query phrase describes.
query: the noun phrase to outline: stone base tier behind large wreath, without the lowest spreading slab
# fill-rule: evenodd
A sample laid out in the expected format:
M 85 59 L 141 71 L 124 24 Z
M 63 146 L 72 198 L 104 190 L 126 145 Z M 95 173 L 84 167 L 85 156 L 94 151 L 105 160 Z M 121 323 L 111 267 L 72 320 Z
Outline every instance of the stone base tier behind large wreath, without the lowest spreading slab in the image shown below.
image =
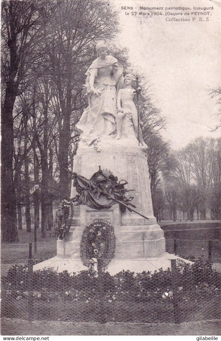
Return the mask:
M 160 257 L 165 253 L 164 231 L 160 226 L 156 222 L 149 223 L 149 220 L 139 225 L 122 225 L 121 212 L 119 205 L 116 204 L 111 209 L 100 211 L 81 205 L 81 225 L 72 226 L 64 240 L 57 240 L 57 256 L 80 259 L 80 243 L 83 229 L 88 222 L 96 219 L 107 220 L 113 225 L 116 237 L 114 257 L 119 260 Z

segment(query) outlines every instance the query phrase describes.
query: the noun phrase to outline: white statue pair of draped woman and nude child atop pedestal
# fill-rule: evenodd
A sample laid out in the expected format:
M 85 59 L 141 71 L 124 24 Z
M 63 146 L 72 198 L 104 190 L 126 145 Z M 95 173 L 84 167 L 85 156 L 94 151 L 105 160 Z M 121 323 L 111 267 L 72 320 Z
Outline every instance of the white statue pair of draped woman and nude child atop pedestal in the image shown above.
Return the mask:
M 140 88 L 132 88 L 135 77 L 132 74 L 123 77 L 123 66 L 115 57 L 107 55 L 108 47 L 104 41 L 98 41 L 96 51 L 98 58 L 88 68 L 84 85 L 88 107 L 77 124 L 81 143 L 86 146 L 94 144 L 95 147 L 101 137 L 117 131 L 116 139 L 134 135 L 141 147 L 147 148 L 133 102 L 135 93 L 141 102 L 145 97 Z

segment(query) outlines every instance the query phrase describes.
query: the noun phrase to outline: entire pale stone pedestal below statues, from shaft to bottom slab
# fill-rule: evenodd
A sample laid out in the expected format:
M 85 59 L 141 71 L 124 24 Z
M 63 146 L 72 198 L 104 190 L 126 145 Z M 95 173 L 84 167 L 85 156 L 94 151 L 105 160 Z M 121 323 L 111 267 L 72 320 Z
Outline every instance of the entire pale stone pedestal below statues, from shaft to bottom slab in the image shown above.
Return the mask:
M 116 140 L 108 136 L 101 141 L 102 151 L 96 152 L 92 147 L 79 148 L 74 157 L 73 172 L 89 179 L 101 169 L 110 170 L 119 180 L 128 182 L 129 196 L 137 213 L 121 212 L 115 204 L 109 209 L 94 210 L 86 205 L 74 206 L 73 224 L 64 240 L 57 241 L 57 256 L 39 263 L 35 269 L 53 266 L 58 271 L 70 273 L 86 270 L 80 258 L 80 243 L 85 226 L 96 219 L 110 222 L 116 236 L 116 250 L 107 267 L 112 275 L 121 270 L 134 272 L 154 271 L 170 267 L 170 259 L 177 258 L 165 252 L 164 232 L 156 223 L 153 215 L 150 180 L 145 152 L 138 146 L 137 140 Z M 72 186 L 71 197 L 77 194 Z

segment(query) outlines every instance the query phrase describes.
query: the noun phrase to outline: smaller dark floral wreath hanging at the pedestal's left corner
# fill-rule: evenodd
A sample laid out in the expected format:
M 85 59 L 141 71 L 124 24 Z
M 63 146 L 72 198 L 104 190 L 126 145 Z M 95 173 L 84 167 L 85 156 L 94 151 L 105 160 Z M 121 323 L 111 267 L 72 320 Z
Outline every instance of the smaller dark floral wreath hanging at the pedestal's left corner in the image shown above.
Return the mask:
M 71 201 L 64 199 L 56 210 L 56 219 L 54 222 L 54 231 L 59 239 L 63 239 L 71 227 L 73 218 L 73 204 Z

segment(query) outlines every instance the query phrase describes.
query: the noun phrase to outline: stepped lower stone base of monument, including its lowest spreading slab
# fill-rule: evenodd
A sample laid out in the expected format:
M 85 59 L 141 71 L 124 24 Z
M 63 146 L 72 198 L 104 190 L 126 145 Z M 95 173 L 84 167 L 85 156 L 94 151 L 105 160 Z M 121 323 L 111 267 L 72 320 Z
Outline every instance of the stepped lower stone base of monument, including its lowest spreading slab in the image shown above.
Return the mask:
M 86 205 L 80 207 L 80 225 L 71 226 L 64 240 L 57 240 L 57 256 L 36 264 L 34 270 L 53 267 L 55 270 L 69 273 L 88 270 L 83 265 L 80 256 L 80 244 L 83 229 L 91 220 L 107 220 L 114 227 L 116 249 L 114 258 L 107 267 L 111 274 L 121 270 L 134 272 L 155 271 L 170 267 L 171 257 L 165 252 L 164 231 L 151 220 L 141 220 L 138 224 L 122 225 L 122 215 L 119 205 L 115 204 L 108 210 L 93 210 Z M 135 218 L 137 222 L 139 218 Z

